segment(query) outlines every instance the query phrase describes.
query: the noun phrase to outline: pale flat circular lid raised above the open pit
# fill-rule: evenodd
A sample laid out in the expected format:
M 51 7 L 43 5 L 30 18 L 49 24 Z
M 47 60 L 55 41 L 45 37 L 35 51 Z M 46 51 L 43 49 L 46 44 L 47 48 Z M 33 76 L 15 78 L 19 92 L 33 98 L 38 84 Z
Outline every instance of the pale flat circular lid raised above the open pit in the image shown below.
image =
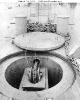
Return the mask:
M 64 37 L 47 32 L 32 32 L 18 35 L 14 44 L 19 48 L 33 51 L 54 50 L 61 47 L 65 42 Z

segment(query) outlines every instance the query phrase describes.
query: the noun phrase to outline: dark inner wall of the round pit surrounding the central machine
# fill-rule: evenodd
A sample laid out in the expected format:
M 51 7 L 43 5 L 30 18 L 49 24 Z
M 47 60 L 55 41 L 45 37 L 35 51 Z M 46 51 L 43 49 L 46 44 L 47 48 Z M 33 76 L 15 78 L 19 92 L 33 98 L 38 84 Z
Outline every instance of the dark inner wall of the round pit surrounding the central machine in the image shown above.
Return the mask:
M 19 89 L 23 73 L 25 68 L 33 66 L 33 60 L 35 57 L 26 57 L 16 60 L 11 63 L 6 71 L 5 78 L 6 81 L 14 88 Z M 40 67 L 45 67 L 48 70 L 48 85 L 49 88 L 57 85 L 63 76 L 63 70 L 58 63 L 55 61 L 46 58 L 46 57 L 37 57 L 40 60 Z

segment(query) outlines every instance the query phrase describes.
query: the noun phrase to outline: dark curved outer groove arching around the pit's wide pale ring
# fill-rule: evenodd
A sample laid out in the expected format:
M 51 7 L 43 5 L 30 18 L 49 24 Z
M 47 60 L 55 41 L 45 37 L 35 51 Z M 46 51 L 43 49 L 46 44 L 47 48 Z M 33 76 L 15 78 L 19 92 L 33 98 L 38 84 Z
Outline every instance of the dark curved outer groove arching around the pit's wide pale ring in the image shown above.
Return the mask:
M 55 52 L 49 53 L 49 52 L 19 51 L 19 52 L 15 52 L 13 54 L 9 54 L 9 55 L 3 57 L 0 60 L 0 64 L 2 64 L 4 61 L 6 61 L 6 60 L 8 60 L 10 58 L 17 57 L 17 56 L 18 57 L 19 56 L 35 56 L 35 53 L 36 53 L 36 56 L 44 56 L 44 57 L 53 57 L 53 56 L 55 56 L 55 57 L 58 57 L 58 58 L 62 59 L 63 61 L 65 61 L 72 68 L 72 70 L 74 71 L 74 78 L 76 79 L 76 71 L 75 71 L 72 63 L 68 59 L 66 59 L 65 57 L 63 57 L 62 55 L 60 55 L 58 53 L 55 53 Z M 73 80 L 73 83 L 74 83 L 75 79 Z M 43 90 L 43 91 L 46 91 L 46 90 Z M 4 94 L 4 95 L 6 95 L 6 94 Z

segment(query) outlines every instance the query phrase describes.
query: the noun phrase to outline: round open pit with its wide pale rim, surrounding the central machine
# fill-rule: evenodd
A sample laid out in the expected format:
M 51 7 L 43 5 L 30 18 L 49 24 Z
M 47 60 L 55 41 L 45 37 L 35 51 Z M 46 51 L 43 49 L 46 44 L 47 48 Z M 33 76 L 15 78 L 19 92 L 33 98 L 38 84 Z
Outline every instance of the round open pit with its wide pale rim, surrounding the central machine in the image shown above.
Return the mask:
M 15 86 L 18 86 L 18 81 L 21 79 L 20 76 L 22 76 L 24 68 L 27 67 L 26 64 L 32 65 L 30 62 L 35 57 L 41 61 L 41 66 L 44 67 L 45 65 L 48 68 L 49 88 L 36 92 L 17 89 Z M 66 58 L 54 52 L 37 52 L 36 56 L 35 52 L 32 54 L 31 52 L 26 52 L 25 58 L 25 51 L 20 51 L 2 58 L 0 64 L 0 92 L 14 100 L 55 98 L 71 88 L 76 79 L 73 65 Z

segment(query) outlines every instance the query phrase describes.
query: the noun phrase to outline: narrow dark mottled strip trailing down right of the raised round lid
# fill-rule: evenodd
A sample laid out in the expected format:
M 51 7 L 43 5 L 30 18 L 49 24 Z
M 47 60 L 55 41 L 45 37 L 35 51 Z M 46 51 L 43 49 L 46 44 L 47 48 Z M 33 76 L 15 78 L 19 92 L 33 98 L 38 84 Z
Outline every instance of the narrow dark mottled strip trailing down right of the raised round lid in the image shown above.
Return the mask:
M 65 48 L 66 57 L 75 66 L 75 69 L 78 71 L 78 73 L 80 73 L 80 68 L 79 68 L 80 65 L 77 63 L 76 58 L 69 56 L 69 43 L 70 43 L 71 36 L 68 33 L 66 36 L 64 36 L 64 38 L 65 38 L 64 48 Z

